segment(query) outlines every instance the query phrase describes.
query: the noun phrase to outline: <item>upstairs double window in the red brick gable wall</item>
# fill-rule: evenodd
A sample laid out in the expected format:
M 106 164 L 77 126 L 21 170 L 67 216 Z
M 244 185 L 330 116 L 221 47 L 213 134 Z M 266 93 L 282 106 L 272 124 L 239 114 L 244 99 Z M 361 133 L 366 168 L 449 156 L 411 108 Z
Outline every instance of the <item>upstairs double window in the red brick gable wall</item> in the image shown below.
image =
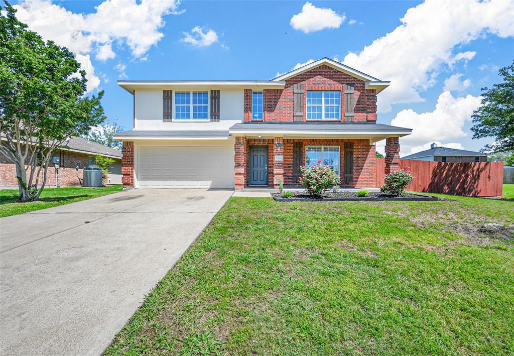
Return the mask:
M 341 92 L 307 92 L 307 120 L 339 119 Z

